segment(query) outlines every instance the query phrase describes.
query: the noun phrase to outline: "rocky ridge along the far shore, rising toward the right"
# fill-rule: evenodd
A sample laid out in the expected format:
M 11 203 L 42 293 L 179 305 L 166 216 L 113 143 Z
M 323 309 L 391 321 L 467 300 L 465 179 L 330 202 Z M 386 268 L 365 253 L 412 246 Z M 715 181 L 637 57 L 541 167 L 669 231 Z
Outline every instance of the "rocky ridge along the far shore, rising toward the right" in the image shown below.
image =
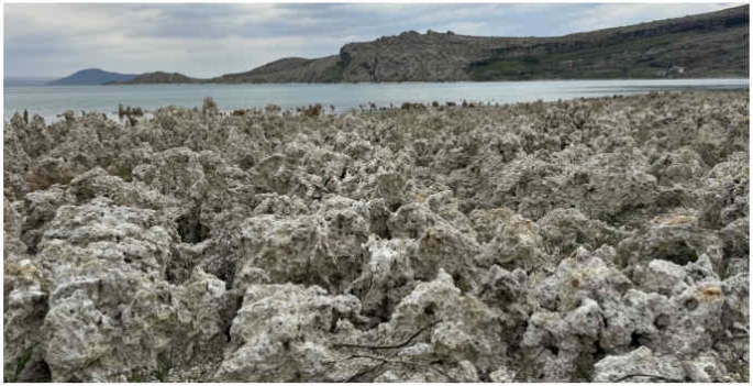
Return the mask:
M 146 73 L 109 84 L 485 81 L 748 77 L 750 5 L 549 37 L 408 31 L 319 58 L 213 78 Z

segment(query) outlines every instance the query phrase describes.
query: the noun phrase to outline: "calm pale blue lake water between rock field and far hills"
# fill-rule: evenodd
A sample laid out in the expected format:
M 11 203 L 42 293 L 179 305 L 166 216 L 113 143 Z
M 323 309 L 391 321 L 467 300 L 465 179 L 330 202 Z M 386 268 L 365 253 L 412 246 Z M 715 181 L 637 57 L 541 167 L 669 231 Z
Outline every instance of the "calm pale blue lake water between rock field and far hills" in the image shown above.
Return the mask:
M 655 79 L 655 80 L 544 80 L 492 82 L 403 82 L 334 85 L 135 85 L 135 86 L 25 86 L 5 87 L 3 121 L 13 112 L 29 110 L 45 120 L 70 109 L 79 113 L 98 111 L 113 114 L 118 104 L 146 110 L 175 104 L 200 107 L 211 96 L 221 110 L 265 107 L 283 108 L 322 103 L 335 111 L 347 111 L 374 102 L 379 107 L 402 102 L 463 100 L 512 103 L 538 99 L 557 100 L 579 97 L 634 95 L 654 90 L 741 89 L 749 79 Z

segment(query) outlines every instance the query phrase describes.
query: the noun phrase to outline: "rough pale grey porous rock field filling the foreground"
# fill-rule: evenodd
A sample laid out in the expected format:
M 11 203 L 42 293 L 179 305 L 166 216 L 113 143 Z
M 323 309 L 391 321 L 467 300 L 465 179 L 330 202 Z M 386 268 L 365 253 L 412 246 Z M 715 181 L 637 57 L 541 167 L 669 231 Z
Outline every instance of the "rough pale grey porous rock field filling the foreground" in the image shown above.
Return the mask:
M 64 117 L 4 126 L 8 382 L 748 381 L 748 91 Z

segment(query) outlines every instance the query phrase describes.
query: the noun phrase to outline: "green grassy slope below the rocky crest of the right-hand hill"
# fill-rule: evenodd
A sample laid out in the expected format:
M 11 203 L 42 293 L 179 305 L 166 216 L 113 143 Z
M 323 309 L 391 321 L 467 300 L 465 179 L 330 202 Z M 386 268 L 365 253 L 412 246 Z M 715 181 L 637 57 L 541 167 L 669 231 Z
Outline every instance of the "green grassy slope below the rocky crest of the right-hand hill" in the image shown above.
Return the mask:
M 474 80 L 748 76 L 748 19 L 715 27 L 595 42 L 571 51 L 505 53 L 472 63 Z M 543 43 L 542 46 L 551 45 Z

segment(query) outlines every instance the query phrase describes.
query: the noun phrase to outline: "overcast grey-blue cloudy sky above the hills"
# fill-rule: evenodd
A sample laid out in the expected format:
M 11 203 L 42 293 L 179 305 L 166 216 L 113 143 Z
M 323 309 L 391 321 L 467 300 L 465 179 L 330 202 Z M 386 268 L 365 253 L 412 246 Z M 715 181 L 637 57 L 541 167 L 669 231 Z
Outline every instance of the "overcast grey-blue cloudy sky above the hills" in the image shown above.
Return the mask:
M 211 77 L 343 44 L 428 29 L 552 36 L 735 4 L 5 4 L 4 70 L 64 76 L 98 67 Z

